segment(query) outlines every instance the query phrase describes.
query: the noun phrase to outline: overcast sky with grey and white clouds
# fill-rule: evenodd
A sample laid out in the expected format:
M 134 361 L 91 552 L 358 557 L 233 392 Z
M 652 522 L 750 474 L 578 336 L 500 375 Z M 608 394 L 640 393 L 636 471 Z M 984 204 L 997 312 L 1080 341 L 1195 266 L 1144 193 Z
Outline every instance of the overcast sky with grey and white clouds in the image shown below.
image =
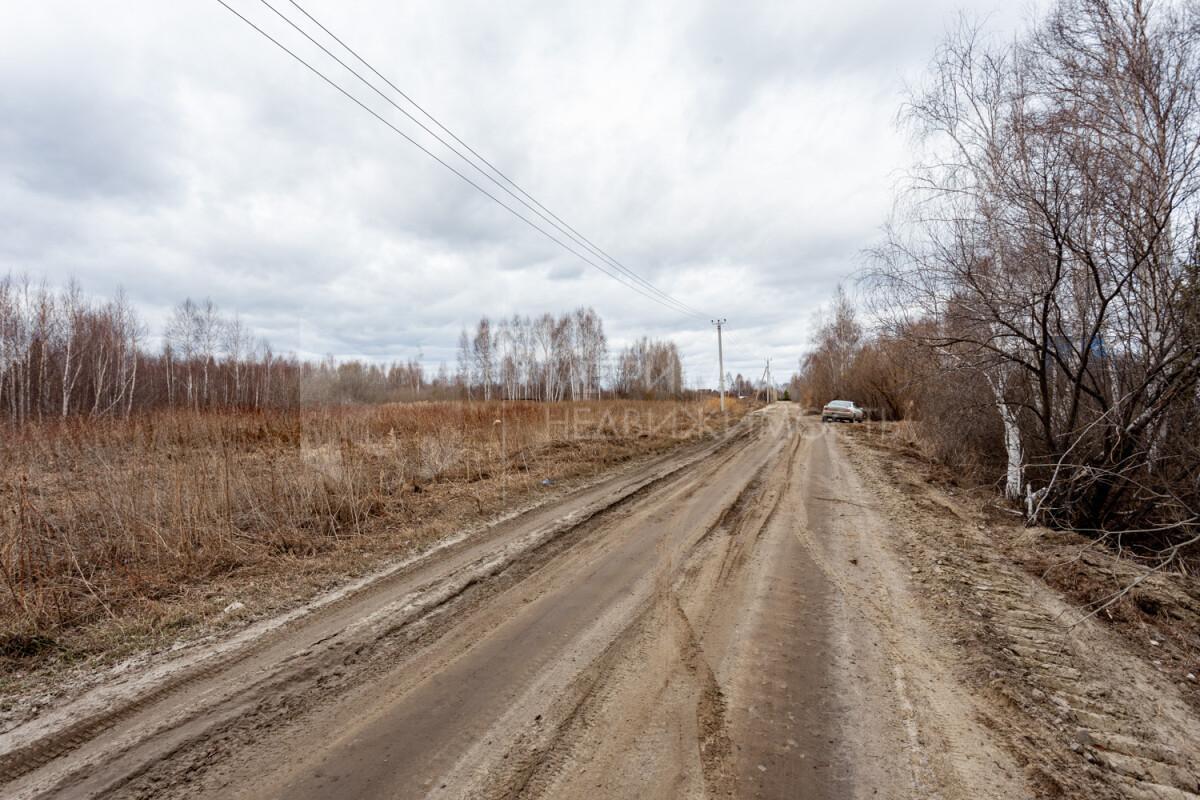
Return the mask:
M 264 2 L 227 1 L 440 148 Z M 793 368 L 887 216 L 905 83 L 960 11 L 1000 31 L 1021 17 L 994 0 L 300 1 L 593 242 L 727 318 L 726 368 L 755 377 L 768 356 Z M 5 272 L 124 287 L 152 335 L 208 296 L 276 349 L 431 366 L 481 313 L 590 305 L 614 345 L 671 337 L 690 381 L 718 372 L 706 319 L 534 233 L 216 0 L 10 4 Z

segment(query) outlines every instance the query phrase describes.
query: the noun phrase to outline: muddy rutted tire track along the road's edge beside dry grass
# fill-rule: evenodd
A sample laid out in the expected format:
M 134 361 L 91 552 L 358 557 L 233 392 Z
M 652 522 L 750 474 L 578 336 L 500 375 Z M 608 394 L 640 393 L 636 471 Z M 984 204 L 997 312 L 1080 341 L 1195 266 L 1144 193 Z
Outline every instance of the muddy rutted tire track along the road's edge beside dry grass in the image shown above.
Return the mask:
M 266 676 L 258 676 L 248 684 L 235 686 L 233 693 L 226 696 L 216 705 L 202 703 L 198 708 L 185 711 L 182 716 L 179 716 L 179 712 L 176 712 L 174 720 L 163 720 L 163 723 L 167 726 L 166 729 L 162 724 L 152 726 L 144 732 L 144 735 L 149 736 L 152 734 L 157 738 L 164 730 L 184 729 L 197 717 L 203 717 L 204 715 L 221 717 L 222 706 L 245 705 L 246 702 L 242 698 L 271 691 L 281 685 L 287 686 L 289 681 L 296 681 L 301 686 L 307 686 L 313 674 L 332 675 L 334 678 L 329 682 L 346 686 L 349 682 L 346 680 L 348 676 L 346 668 L 356 664 L 365 652 L 378 649 L 380 642 L 420 625 L 422 620 L 428 622 L 439 615 L 449 618 L 452 615 L 449 613 L 450 609 L 458 608 L 464 603 L 481 602 L 488 591 L 502 590 L 506 585 L 522 579 L 557 553 L 582 541 L 588 534 L 626 513 L 631 506 L 636 506 L 640 501 L 655 493 L 668 491 L 672 485 L 685 480 L 690 471 L 698 469 L 701 473 L 709 473 L 719 468 L 720 464 L 726 463 L 737 455 L 738 445 L 752 439 L 757 433 L 754 429 L 752 421 L 748 422 L 744 420 L 715 444 L 706 444 L 702 447 L 691 449 L 690 452 L 673 453 L 656 459 L 649 467 L 642 468 L 642 477 L 624 479 L 624 486 L 614 492 L 610 492 L 601 501 L 584 506 L 582 511 L 572 512 L 534 531 L 532 536 L 524 537 L 524 547 L 512 548 L 498 560 L 485 554 L 474 564 L 468 564 L 456 572 L 451 577 L 450 583 L 433 581 L 420 584 L 415 589 L 404 585 L 407 581 L 412 579 L 412 576 L 419 575 L 422 569 L 428 569 L 431 561 L 444 558 L 443 553 L 433 553 L 428 559 L 420 559 L 408 569 L 386 575 L 380 581 L 366 585 L 356 593 L 340 597 L 308 616 L 284 625 L 277 631 L 272 631 L 259 640 L 208 660 L 197 667 L 186 668 L 127 702 L 114 704 L 112 708 L 90 714 L 48 735 L 12 747 L 0 754 L 0 783 L 8 784 L 7 788 L 13 792 L 28 793 L 31 789 L 36 793 L 38 790 L 34 788 L 38 784 L 36 780 L 25 781 L 24 789 L 20 787 L 13 788 L 12 784 L 26 776 L 36 778 L 38 770 L 54 765 L 59 759 L 70 756 L 84 745 L 96 741 L 102 734 L 104 739 L 109 740 L 109 745 L 112 745 L 113 741 L 119 739 L 119 736 L 112 735 L 113 732 L 122 724 L 137 717 L 152 714 L 156 706 L 173 702 L 178 703 L 180 698 L 186 699 L 188 694 L 200 694 L 204 691 L 203 687 L 205 684 L 223 679 L 239 668 L 246 670 L 247 667 L 257 666 L 254 664 L 256 660 L 262 660 L 270 656 L 272 651 L 280 650 L 281 643 L 286 645 L 298 638 L 302 639 L 306 630 L 318 627 L 322 621 L 331 618 L 336 619 L 337 616 L 353 618 L 354 610 L 364 606 L 373 608 L 372 613 L 376 616 L 380 612 L 394 614 L 397 612 L 396 606 L 398 602 L 402 610 L 398 621 L 394 620 L 383 630 L 371 631 L 364 639 L 353 639 L 347 636 L 347 630 L 353 631 L 354 626 L 341 628 L 335 626 L 335 630 L 328 636 L 312 640 L 302 645 L 299 650 L 292 650 L 289 655 L 275 664 L 275 669 L 269 670 Z M 647 474 L 649 477 L 646 477 Z M 577 492 L 576 495 L 586 497 L 589 491 L 589 488 L 584 488 Z M 520 530 L 526 518 L 535 519 L 540 515 L 544 516 L 545 511 L 542 509 L 534 509 L 515 519 L 504 521 L 502 528 L 504 530 Z M 503 531 L 492 531 L 487 539 L 500 539 L 503 541 L 503 537 L 499 535 L 500 533 Z M 476 543 L 474 541 L 469 542 L 469 545 Z M 402 593 L 400 601 L 380 602 L 380 599 L 386 600 L 391 595 L 400 593 Z M 424 597 L 421 600 L 412 600 L 414 595 L 424 595 Z M 364 625 L 359 620 L 358 628 L 361 630 L 365 627 L 368 628 L 371 626 Z M 426 630 L 424 633 L 419 637 L 414 636 L 409 644 L 434 637 L 437 627 L 431 624 L 425 625 Z M 340 664 L 341 669 L 335 664 Z M 206 691 L 211 692 L 211 688 Z M 262 711 L 260 709 L 259 712 Z M 205 733 L 209 732 L 205 730 Z M 184 742 L 173 750 L 156 753 L 156 756 L 162 757 L 178 753 L 180 747 L 186 746 L 188 741 L 194 740 L 198 735 L 200 734 L 193 733 L 190 736 L 185 736 Z M 145 739 L 124 741 L 116 751 L 109 747 L 104 756 L 106 763 L 110 764 L 114 758 L 131 753 L 142 741 L 145 741 Z M 86 762 L 78 766 L 89 772 L 91 771 L 89 769 L 90 764 Z M 145 768 L 146 765 L 144 764 L 142 769 Z M 142 772 L 142 769 L 134 769 L 130 775 L 137 776 Z M 126 776 L 126 780 L 128 777 Z M 72 786 L 72 772 L 67 769 L 55 780 L 54 784 L 59 789 L 65 789 Z M 46 784 L 42 783 L 42 787 L 46 788 Z

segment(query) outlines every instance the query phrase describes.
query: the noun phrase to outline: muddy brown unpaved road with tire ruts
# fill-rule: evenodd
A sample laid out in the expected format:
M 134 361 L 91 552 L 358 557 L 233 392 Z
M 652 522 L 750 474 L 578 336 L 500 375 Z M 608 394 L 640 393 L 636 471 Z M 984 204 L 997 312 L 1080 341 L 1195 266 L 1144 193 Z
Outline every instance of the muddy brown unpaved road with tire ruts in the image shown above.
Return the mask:
M 0 794 L 1050 796 L 1058 732 L 972 685 L 848 444 L 750 415 L 54 709 L 0 736 Z M 1128 796 L 1196 796 L 1176 762 Z

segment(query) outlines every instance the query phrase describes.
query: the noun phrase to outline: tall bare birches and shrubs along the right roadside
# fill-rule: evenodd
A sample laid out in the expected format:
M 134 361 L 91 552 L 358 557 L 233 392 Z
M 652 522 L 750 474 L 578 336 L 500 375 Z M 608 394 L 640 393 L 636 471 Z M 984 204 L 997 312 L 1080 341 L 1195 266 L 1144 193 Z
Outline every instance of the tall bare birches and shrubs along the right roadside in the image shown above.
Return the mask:
M 1198 541 L 1198 44 L 1194 4 L 1139 0 L 949 35 L 905 107 L 880 325 L 839 299 L 798 385 L 917 417 L 1031 522 Z

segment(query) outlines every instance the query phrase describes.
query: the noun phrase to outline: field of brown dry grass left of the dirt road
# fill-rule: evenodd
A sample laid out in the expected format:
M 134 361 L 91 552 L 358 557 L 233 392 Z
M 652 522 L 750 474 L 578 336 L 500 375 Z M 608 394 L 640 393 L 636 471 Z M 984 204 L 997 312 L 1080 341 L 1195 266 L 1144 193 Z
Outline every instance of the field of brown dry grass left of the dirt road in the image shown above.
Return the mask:
M 6 432 L 0 673 L 170 642 L 233 600 L 266 613 L 740 413 L 421 403 Z

